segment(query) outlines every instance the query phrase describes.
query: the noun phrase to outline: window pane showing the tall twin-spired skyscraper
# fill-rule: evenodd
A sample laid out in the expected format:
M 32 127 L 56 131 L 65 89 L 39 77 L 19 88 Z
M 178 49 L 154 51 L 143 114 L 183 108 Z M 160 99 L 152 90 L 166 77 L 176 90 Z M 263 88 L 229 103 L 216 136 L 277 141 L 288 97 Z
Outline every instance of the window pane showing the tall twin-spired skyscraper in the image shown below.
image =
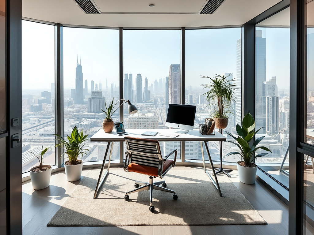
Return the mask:
M 119 30 L 63 28 L 63 98 L 64 136 L 75 125 L 88 138 L 102 128 L 105 102 L 119 100 Z M 112 120 L 119 121 L 119 109 Z M 104 159 L 106 142 L 86 144 L 85 162 Z M 112 160 L 120 159 L 119 146 L 114 143 Z

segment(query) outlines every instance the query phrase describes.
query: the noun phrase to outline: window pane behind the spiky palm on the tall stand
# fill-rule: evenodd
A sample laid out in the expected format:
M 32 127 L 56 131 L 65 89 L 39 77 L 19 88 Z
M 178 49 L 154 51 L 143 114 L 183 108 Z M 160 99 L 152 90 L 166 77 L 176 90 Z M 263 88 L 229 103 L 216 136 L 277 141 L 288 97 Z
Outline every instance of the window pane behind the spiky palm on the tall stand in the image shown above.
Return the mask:
M 213 78 L 215 74 L 228 76 L 236 84 L 234 100 L 231 102 L 228 114 L 228 126 L 225 131 L 236 133 L 236 123 L 241 123 L 241 28 L 230 29 L 193 29 L 186 30 L 185 33 L 185 103 L 197 106 L 194 128 L 199 128 L 199 124 L 205 123 L 205 118 L 210 118 L 213 107 L 208 107 L 209 102 L 204 92 L 202 84 L 209 84 L 209 76 Z M 216 132 L 219 133 L 217 129 Z M 227 140 L 233 138 L 227 136 Z M 209 143 L 210 155 L 213 160 L 220 160 L 219 142 Z M 235 145 L 223 143 L 223 156 L 235 151 Z M 186 159 L 202 159 L 200 142 L 186 142 Z M 205 151 L 205 159 L 208 156 Z M 223 157 L 224 161 L 237 162 L 240 158 L 236 155 Z

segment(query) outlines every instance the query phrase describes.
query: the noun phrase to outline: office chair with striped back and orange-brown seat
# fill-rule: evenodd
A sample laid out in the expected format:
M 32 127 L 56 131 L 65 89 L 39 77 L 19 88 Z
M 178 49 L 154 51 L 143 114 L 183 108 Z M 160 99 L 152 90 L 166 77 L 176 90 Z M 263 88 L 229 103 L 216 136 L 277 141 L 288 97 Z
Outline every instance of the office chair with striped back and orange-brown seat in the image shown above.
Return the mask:
M 137 172 L 144 175 L 149 175 L 149 182 L 135 182 L 135 189 L 127 192 L 124 196 L 125 201 L 129 200 L 129 194 L 139 191 L 149 190 L 150 206 L 149 211 L 154 212 L 153 190 L 161 190 L 173 193 L 173 199 L 177 200 L 176 191 L 166 189 L 165 180 L 153 182 L 153 177 L 162 179 L 165 174 L 176 165 L 177 149 L 173 150 L 165 158 L 162 158 L 160 145 L 157 140 L 125 137 L 127 144 L 127 154 L 124 164 L 124 170 L 128 172 Z M 172 154 L 175 154 L 175 159 L 170 160 Z M 160 186 L 162 184 L 162 187 Z M 140 186 L 140 187 L 139 187 Z

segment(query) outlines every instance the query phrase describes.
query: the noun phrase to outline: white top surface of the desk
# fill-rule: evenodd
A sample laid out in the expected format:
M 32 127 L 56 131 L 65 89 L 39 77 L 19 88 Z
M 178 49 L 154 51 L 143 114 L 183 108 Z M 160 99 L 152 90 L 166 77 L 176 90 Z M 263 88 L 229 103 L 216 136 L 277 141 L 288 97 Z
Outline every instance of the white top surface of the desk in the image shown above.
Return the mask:
M 172 138 L 167 136 L 161 136 L 160 133 L 175 133 L 178 129 L 126 129 L 126 132 L 130 133 L 127 135 L 117 135 L 116 131 L 113 130 L 111 133 L 105 133 L 103 129 L 100 129 L 95 133 L 90 141 L 124 141 L 124 137 L 135 137 L 145 139 L 156 139 L 159 141 L 225 141 L 226 137 L 216 131 L 215 135 L 202 135 L 199 133 L 199 129 L 193 129 L 186 134 L 179 134 L 178 137 Z M 158 132 L 155 136 L 142 135 L 146 131 Z

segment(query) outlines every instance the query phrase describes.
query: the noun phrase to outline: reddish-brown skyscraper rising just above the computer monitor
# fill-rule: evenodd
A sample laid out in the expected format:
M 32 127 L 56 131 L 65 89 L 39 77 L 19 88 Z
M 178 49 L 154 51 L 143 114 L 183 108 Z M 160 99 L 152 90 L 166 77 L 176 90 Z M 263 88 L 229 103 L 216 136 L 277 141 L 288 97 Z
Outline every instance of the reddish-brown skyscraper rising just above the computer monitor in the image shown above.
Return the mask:
M 180 64 L 171 64 L 169 68 L 169 103 L 181 103 Z

